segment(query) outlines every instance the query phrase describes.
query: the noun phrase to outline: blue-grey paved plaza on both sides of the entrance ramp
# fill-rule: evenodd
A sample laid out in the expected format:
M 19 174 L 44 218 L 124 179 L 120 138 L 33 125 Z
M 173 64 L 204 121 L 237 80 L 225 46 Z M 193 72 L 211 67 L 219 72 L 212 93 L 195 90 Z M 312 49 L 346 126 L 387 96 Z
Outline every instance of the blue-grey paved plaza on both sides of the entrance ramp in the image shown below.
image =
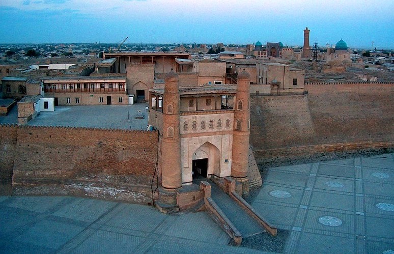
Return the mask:
M 251 202 L 286 253 L 394 253 L 394 154 L 270 168 Z M 206 212 L 79 197 L 0 196 L 0 252 L 254 253 Z

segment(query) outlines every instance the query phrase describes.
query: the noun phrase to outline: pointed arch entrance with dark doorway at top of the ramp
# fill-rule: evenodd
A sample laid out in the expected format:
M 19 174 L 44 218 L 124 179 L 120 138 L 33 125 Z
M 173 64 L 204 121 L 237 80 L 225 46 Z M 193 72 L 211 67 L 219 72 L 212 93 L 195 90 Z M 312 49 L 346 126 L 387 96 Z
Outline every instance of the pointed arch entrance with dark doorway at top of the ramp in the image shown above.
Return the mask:
M 220 176 L 220 151 L 209 142 L 201 145 L 192 156 L 192 178 Z

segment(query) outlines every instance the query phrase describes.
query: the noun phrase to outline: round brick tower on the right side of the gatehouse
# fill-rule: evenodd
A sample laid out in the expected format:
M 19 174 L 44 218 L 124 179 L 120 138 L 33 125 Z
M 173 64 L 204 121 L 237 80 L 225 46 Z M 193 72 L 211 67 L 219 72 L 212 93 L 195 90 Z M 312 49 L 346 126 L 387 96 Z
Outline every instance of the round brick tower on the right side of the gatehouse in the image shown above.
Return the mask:
M 234 131 L 231 176 L 243 183 L 242 193 L 249 191 L 248 149 L 249 149 L 249 86 L 250 76 L 243 70 L 237 77 L 237 94 L 234 105 Z

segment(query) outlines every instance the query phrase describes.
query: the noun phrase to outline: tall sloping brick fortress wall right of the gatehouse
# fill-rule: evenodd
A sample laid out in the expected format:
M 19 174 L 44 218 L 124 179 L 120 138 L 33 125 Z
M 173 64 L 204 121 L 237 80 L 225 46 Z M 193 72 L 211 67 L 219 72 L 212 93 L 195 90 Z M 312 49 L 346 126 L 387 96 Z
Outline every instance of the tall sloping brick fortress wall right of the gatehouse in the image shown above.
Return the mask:
M 306 84 L 307 95 L 251 97 L 256 159 L 394 142 L 394 84 Z

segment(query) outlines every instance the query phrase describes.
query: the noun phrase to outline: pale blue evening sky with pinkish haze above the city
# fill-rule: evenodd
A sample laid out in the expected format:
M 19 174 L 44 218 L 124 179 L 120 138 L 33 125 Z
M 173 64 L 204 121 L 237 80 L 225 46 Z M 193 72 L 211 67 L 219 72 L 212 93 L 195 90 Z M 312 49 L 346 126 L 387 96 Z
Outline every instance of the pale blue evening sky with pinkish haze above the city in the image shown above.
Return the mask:
M 0 43 L 208 43 L 394 49 L 394 0 L 1 0 Z

